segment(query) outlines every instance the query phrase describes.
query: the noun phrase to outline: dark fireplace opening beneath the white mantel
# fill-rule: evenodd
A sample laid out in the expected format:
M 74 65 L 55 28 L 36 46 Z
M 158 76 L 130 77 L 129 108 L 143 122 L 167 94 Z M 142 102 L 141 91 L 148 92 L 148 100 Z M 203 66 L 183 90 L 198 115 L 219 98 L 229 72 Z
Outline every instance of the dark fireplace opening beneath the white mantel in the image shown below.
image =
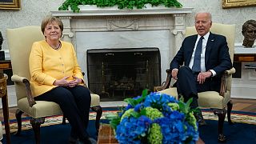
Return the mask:
M 86 52 L 88 86 L 101 101 L 120 101 L 160 86 L 160 52 L 155 47 L 91 49 Z

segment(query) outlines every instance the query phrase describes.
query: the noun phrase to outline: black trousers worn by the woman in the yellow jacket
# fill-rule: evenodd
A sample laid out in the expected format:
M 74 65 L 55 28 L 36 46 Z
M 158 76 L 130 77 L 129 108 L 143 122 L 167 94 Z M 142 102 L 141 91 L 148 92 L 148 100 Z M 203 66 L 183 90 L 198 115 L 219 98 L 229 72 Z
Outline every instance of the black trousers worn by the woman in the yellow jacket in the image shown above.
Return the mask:
M 36 101 L 56 102 L 70 122 L 70 136 L 88 138 L 86 128 L 90 113 L 90 90 L 85 86 L 56 87 L 34 98 Z

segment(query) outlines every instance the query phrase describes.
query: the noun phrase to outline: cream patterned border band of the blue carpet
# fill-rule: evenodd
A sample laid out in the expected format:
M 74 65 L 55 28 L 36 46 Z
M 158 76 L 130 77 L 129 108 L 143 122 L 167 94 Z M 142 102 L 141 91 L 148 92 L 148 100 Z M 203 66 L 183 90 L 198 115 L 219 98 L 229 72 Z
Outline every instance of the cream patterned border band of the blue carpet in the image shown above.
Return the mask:
M 109 109 L 109 110 L 108 110 Z M 103 108 L 102 118 L 106 119 L 106 116 L 113 115 L 118 112 L 118 108 Z M 218 117 L 214 115 L 214 113 L 210 110 L 202 110 L 203 117 L 209 120 L 218 120 Z M 90 120 L 94 120 L 96 117 L 96 113 L 90 112 Z M 225 119 L 227 121 L 227 118 Z M 231 120 L 232 122 L 242 122 L 247 124 L 256 125 L 256 114 L 249 113 L 249 112 L 241 112 L 241 111 L 232 111 L 231 113 Z M 68 122 L 68 121 L 66 121 Z M 62 123 L 62 115 L 54 116 L 46 118 L 46 122 L 42 124 L 42 126 L 50 126 L 50 125 L 57 125 Z M 4 126 L 3 126 L 4 128 Z M 22 119 L 22 130 L 31 129 L 32 126 L 30 124 L 30 118 L 23 118 Z M 10 120 L 10 132 L 14 133 L 17 131 L 17 123 L 16 120 Z M 3 130 L 3 132 L 5 132 Z

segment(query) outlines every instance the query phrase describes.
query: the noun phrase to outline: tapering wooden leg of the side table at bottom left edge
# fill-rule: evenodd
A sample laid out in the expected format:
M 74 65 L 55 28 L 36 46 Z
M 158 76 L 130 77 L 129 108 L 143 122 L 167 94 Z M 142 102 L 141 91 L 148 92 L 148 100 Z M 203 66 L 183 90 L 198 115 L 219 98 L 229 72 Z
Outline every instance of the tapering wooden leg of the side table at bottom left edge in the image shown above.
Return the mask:
M 10 121 L 7 93 L 2 97 L 2 113 L 5 122 L 6 142 L 7 144 L 10 144 Z

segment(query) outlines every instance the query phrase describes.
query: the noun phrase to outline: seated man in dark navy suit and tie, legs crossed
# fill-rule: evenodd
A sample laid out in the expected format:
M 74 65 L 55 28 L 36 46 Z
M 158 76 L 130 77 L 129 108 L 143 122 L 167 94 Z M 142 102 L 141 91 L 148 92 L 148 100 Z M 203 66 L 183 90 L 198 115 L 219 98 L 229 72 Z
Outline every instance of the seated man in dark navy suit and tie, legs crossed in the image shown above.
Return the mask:
M 223 72 L 232 67 L 226 37 L 210 32 L 211 14 L 198 13 L 194 18 L 198 34 L 185 38 L 170 62 L 178 95 L 185 102 L 193 98 L 191 108 L 198 107 L 198 92 L 219 92 Z M 195 117 L 199 126 L 206 125 L 200 110 Z

